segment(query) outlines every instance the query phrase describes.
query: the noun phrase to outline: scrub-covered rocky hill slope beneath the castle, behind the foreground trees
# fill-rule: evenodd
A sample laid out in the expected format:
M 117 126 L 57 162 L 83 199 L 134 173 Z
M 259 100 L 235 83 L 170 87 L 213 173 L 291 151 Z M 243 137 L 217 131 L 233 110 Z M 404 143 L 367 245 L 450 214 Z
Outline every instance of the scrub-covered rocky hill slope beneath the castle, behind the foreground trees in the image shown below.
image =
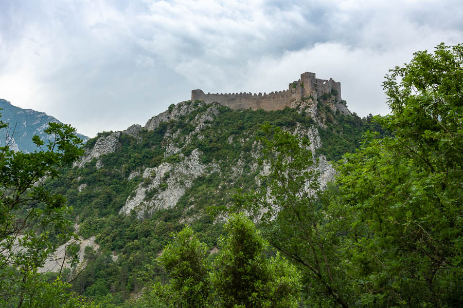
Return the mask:
M 256 188 L 266 172 L 258 166 L 256 142 L 264 122 L 312 141 L 322 185 L 333 176 L 325 156 L 339 159 L 355 149 L 363 131 L 376 129 L 370 119 L 344 114 L 326 98 L 276 111 L 186 101 L 144 127 L 99 133 L 73 168 L 46 183 L 74 207 L 80 236 L 95 237 L 99 245 L 98 252 L 85 248 L 91 262 L 74 280 L 74 290 L 117 298 L 115 303 L 126 300 L 143 287 L 140 275 L 159 279 L 153 260 L 171 232 L 185 224 L 213 249 L 222 227 L 211 220 L 209 207 L 232 205 L 238 189 Z M 149 272 L 146 264 L 153 266 Z

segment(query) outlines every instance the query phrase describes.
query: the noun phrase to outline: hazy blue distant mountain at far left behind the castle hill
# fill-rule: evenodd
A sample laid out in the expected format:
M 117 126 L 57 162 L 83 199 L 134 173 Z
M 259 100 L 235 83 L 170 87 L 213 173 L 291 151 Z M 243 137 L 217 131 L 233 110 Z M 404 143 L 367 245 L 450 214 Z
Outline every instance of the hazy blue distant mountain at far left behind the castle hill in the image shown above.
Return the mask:
M 48 123 L 61 123 L 58 119 L 45 112 L 16 107 L 3 99 L 0 99 L 0 108 L 3 108 L 3 110 L 0 110 L 2 114 L 1 120 L 9 123 L 8 131 L 3 130 L 0 132 L 0 145 L 5 144 L 6 138 L 12 138 L 11 147 L 15 150 L 33 152 L 37 149 L 37 146 L 32 142 L 32 137 L 37 135 L 42 140 L 48 140 L 48 135 L 43 132 Z M 7 134 L 13 134 L 13 136 L 7 136 Z M 80 133 L 77 136 L 84 142 L 89 139 Z

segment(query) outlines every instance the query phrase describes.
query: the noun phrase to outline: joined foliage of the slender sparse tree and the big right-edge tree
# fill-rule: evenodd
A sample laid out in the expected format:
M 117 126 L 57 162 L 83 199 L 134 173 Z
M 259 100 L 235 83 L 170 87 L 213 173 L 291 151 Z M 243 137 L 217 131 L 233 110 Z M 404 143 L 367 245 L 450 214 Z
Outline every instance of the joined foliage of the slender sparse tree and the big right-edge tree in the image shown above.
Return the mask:
M 238 201 L 261 218 L 272 245 L 306 268 L 308 304 L 463 303 L 462 54 L 461 45 L 439 45 L 391 70 L 384 89 L 392 112 L 376 117 L 386 133 L 366 132 L 316 196 L 307 142 L 264 126 L 270 174 L 260 195 Z

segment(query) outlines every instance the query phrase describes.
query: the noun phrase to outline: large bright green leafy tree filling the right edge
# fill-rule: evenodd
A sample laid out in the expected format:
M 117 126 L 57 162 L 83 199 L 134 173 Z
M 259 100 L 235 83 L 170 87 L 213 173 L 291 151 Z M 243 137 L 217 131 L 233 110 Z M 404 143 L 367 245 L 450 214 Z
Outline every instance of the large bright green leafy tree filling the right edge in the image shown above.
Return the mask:
M 417 52 L 386 75 L 394 137 L 369 134 L 337 165 L 363 306 L 463 305 L 463 45 Z

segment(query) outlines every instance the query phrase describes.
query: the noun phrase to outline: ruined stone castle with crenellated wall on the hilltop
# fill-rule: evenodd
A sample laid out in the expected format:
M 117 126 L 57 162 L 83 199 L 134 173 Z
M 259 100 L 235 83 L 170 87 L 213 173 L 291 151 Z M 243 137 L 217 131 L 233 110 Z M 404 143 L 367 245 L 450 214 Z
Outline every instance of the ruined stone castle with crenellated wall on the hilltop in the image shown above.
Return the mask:
M 324 93 L 333 94 L 335 102 L 341 102 L 341 83 L 330 80 L 315 78 L 315 73 L 305 72 L 300 75 L 298 81 L 289 84 L 288 90 L 271 92 L 269 94 L 259 93 L 207 93 L 203 90 L 192 90 L 191 100 L 205 101 L 206 103 L 217 102 L 232 109 L 263 109 L 266 111 L 283 109 L 291 103 L 301 101 L 303 98 L 314 99 Z

